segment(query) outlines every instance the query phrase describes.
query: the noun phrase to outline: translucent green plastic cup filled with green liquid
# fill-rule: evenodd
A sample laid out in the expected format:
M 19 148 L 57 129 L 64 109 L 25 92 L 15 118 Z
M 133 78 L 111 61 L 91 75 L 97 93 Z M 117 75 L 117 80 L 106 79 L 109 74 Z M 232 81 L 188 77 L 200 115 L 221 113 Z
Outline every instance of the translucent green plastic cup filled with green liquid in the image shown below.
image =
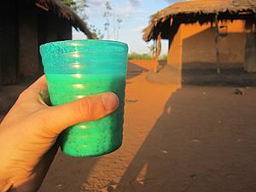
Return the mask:
M 114 113 L 61 132 L 64 154 L 97 156 L 121 146 L 127 51 L 127 44 L 107 40 L 69 40 L 40 46 L 52 105 L 106 91 L 119 96 L 119 108 Z

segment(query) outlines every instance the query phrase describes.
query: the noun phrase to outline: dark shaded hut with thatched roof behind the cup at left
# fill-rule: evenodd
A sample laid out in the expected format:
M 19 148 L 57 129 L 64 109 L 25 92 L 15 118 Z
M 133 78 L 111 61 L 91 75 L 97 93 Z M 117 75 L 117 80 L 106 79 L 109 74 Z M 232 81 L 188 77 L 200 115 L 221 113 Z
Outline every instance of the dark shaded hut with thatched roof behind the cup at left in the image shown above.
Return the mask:
M 42 74 L 39 45 L 71 39 L 72 26 L 95 38 L 60 0 L 3 1 L 0 9 L 0 84 Z

